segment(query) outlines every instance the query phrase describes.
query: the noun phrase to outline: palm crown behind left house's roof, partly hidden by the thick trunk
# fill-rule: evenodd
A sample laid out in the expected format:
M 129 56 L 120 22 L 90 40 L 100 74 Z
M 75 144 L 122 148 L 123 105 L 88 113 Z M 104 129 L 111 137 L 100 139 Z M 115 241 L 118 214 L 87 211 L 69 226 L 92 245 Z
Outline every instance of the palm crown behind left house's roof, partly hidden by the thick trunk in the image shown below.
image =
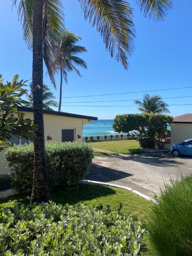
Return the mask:
M 33 108 L 33 94 L 32 94 L 32 83 L 30 83 L 30 93 L 27 93 L 27 98 L 29 102 L 31 103 L 29 105 L 30 108 Z M 53 92 L 49 90 L 49 87 L 45 84 L 43 84 L 43 108 L 47 110 L 53 110 L 51 107 L 58 107 L 58 102 L 55 99 L 55 95 Z

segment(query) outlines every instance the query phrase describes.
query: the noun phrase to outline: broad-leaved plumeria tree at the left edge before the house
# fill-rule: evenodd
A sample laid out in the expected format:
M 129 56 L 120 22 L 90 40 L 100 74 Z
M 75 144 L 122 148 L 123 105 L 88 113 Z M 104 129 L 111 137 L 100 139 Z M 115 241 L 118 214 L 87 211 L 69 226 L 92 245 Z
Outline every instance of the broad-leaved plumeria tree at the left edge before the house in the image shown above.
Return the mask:
M 33 140 L 36 135 L 32 132 L 37 129 L 37 125 L 29 118 L 24 119 L 24 113 L 18 110 L 20 106 L 29 105 L 21 98 L 27 92 L 27 89 L 23 89 L 26 81 L 18 82 L 18 75 L 15 75 L 12 83 L 3 84 L 1 77 L 0 75 L 0 151 L 13 145 L 12 135 Z

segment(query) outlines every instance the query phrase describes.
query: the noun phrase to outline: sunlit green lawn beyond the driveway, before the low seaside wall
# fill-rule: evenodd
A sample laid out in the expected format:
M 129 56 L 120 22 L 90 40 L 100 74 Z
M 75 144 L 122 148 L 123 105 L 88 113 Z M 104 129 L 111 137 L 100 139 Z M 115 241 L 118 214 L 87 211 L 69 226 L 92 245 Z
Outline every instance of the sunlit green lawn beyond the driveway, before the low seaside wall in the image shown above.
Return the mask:
M 139 142 L 135 140 L 91 142 L 91 146 L 121 154 L 137 154 L 143 152 L 139 146 Z

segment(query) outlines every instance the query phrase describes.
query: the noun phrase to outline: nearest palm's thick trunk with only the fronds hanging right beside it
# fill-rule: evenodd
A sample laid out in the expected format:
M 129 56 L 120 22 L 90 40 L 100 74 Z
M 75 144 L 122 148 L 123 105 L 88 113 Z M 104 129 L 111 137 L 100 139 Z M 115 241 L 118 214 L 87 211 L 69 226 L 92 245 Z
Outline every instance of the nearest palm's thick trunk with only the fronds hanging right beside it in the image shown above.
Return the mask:
M 23 38 L 32 49 L 32 92 L 34 124 L 38 124 L 34 140 L 33 188 L 30 205 L 49 200 L 43 121 L 43 60 L 51 82 L 54 80 L 54 51 L 64 29 L 63 6 L 60 0 L 13 0 L 19 2 L 18 16 L 22 22 Z

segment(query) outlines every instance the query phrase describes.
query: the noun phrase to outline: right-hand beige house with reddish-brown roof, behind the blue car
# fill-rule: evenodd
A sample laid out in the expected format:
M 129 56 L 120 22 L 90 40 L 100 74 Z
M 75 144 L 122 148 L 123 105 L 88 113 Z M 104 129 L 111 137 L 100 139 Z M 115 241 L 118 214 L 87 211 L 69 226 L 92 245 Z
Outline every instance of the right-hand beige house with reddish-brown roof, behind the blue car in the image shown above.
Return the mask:
M 192 138 L 192 113 L 174 117 L 171 126 L 171 143 L 177 144 Z

